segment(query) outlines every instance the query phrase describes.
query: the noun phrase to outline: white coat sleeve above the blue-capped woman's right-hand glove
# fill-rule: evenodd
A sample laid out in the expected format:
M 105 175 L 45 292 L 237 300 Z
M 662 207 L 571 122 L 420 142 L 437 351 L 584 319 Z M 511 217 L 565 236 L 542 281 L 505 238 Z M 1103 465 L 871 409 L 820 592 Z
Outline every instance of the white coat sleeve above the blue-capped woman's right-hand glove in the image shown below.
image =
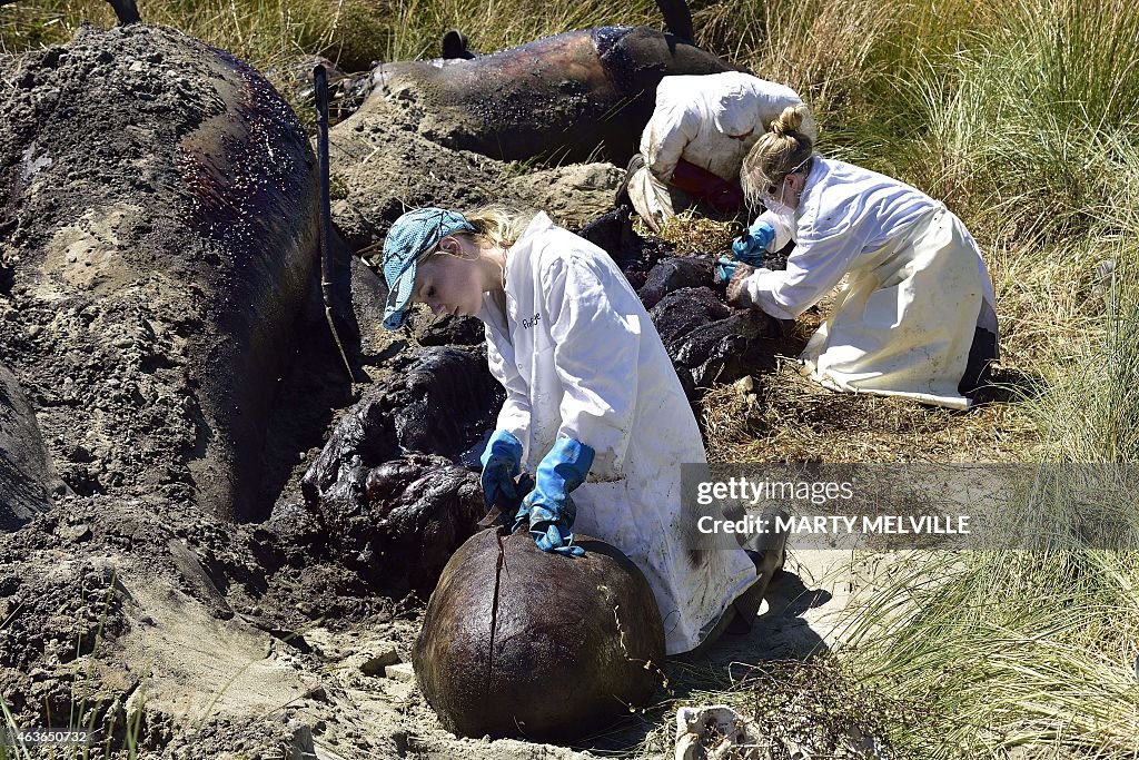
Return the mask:
M 622 477 L 637 409 L 640 319 L 614 307 L 607 272 L 589 258 L 555 259 L 542 279 L 563 389 L 558 434 L 593 449 L 596 477 Z

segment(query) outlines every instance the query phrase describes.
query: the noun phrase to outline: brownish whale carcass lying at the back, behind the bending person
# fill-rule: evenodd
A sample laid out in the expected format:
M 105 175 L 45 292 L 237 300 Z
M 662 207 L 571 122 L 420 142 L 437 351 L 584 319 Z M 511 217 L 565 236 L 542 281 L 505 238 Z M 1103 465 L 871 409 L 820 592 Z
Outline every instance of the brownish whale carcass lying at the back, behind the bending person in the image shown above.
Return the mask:
M 673 34 L 604 26 L 465 59 L 384 64 L 375 98 L 411 101 L 420 134 L 492 158 L 624 164 L 673 74 L 736 66 Z

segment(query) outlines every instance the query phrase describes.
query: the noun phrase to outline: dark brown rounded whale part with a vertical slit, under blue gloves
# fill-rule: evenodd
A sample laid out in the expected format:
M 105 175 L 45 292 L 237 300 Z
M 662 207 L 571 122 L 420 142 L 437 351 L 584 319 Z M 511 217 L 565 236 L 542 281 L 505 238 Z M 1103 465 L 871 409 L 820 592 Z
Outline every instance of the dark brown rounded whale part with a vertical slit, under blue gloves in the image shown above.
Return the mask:
M 566 741 L 652 697 L 665 649 L 648 581 L 608 544 L 575 542 L 585 556 L 484 530 L 451 557 L 412 655 L 448 730 Z

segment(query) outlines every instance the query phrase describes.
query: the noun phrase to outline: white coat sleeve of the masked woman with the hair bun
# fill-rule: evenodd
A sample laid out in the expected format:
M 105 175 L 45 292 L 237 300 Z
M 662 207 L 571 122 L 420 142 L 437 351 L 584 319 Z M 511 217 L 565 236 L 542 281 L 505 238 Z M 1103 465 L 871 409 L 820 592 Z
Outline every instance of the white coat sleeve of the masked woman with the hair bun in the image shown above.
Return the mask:
M 857 255 L 858 248 L 843 236 L 800 240 L 786 271 L 757 269 L 744 286 L 753 305 L 777 319 L 794 319 L 838 285 Z

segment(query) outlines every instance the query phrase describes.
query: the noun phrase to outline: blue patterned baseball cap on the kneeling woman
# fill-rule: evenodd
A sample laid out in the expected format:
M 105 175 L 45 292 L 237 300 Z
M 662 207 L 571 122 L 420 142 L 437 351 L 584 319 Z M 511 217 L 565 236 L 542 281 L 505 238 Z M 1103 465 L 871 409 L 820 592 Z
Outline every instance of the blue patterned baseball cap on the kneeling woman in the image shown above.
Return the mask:
M 384 279 L 387 280 L 387 305 L 384 327 L 399 329 L 408 316 L 408 302 L 416 287 L 416 265 L 424 252 L 439 245 L 448 235 L 474 232 L 467 218 L 446 209 L 416 209 L 392 224 L 384 240 Z

